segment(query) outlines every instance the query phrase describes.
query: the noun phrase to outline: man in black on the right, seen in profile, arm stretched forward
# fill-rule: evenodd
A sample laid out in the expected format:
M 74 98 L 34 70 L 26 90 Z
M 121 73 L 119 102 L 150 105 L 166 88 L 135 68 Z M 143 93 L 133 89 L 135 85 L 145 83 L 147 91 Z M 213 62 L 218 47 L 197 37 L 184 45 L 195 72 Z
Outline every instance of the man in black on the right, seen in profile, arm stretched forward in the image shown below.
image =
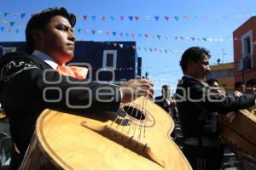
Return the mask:
M 219 132 L 206 126 L 212 114 L 227 114 L 255 104 L 254 94 L 226 96 L 219 88 L 205 85 L 210 57 L 207 49 L 191 47 L 180 61 L 183 77 L 177 85 L 177 111 L 183 128 L 183 153 L 195 170 L 220 169 L 223 148 Z

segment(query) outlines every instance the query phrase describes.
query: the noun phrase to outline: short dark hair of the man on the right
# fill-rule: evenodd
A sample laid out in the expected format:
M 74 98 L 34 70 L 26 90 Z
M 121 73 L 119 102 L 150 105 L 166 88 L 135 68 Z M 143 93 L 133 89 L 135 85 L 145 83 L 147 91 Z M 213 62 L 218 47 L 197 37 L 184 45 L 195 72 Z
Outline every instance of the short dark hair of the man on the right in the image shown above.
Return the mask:
M 197 62 L 201 59 L 204 59 L 205 55 L 208 56 L 208 58 L 211 58 L 210 51 L 206 48 L 200 48 L 200 47 L 191 47 L 188 48 L 182 55 L 182 58 L 179 62 L 179 65 L 181 66 L 183 72 L 186 71 L 188 67 L 189 60 L 192 60 L 194 62 Z

